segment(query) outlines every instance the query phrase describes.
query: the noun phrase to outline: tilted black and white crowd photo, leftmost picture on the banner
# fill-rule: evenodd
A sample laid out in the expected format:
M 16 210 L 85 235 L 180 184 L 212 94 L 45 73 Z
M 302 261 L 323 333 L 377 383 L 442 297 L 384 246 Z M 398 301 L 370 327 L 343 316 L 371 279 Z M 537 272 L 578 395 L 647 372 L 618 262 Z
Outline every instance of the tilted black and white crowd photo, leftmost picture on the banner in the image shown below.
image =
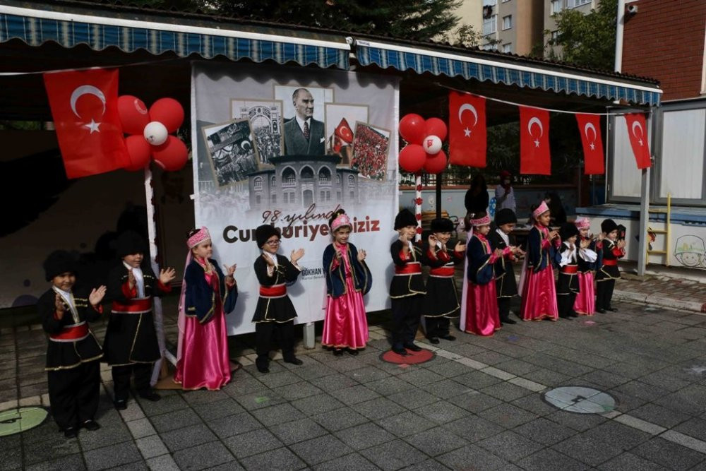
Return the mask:
M 204 126 L 202 131 L 218 186 L 247 180 L 249 174 L 258 171 L 249 119 Z

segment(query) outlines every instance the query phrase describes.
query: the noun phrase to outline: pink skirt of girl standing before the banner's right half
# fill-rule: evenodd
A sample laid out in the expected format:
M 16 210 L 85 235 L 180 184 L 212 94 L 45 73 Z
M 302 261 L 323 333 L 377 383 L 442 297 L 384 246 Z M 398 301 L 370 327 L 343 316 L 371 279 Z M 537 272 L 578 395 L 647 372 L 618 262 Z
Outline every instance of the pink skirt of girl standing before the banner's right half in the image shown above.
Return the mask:
M 327 297 L 321 345 L 352 350 L 365 348 L 368 342 L 365 303 L 349 276 L 346 277 L 346 291 L 341 297 Z

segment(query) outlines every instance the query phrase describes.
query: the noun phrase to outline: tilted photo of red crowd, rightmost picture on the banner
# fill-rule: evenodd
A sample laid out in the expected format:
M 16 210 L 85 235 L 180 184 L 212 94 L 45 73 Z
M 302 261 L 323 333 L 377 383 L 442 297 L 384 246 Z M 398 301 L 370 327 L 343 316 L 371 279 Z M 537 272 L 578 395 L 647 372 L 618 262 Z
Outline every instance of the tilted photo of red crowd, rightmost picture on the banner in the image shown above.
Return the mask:
M 388 167 L 390 130 L 361 121 L 355 129 L 351 168 L 360 172 L 361 177 L 383 181 Z

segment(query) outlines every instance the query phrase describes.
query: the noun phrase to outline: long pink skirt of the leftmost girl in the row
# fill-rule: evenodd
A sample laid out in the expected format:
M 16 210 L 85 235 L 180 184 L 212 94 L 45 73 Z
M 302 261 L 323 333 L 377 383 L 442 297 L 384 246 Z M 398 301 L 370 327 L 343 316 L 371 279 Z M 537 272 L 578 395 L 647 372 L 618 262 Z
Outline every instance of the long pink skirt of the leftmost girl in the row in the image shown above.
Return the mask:
M 222 309 L 205 324 L 184 319 L 184 343 L 174 381 L 184 389 L 217 390 L 230 381 L 230 359 Z

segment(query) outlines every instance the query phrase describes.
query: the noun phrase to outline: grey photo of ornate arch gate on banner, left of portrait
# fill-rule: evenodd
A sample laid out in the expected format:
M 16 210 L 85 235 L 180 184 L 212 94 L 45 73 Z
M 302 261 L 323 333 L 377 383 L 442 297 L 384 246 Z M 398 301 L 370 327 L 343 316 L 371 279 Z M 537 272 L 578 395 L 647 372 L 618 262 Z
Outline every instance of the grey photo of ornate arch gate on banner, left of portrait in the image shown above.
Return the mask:
M 270 158 L 282 155 L 285 139 L 282 136 L 281 100 L 230 100 L 230 116 L 233 119 L 247 118 L 253 130 L 255 145 L 261 165 L 270 165 Z

